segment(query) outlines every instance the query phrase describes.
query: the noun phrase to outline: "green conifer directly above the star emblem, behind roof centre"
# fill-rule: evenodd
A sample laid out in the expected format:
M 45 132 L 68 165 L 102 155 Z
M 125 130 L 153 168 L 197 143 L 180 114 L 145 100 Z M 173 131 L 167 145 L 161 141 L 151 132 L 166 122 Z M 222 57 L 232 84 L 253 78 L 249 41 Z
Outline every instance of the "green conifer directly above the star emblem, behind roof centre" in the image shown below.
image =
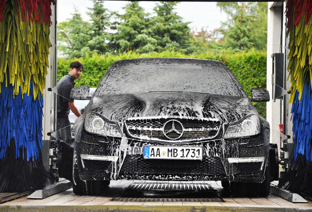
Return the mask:
M 175 49 L 190 53 L 191 33 L 189 22 L 183 22 L 182 17 L 174 12 L 177 1 L 160 1 L 156 3 L 153 18 L 152 36 L 157 40 L 156 51 Z

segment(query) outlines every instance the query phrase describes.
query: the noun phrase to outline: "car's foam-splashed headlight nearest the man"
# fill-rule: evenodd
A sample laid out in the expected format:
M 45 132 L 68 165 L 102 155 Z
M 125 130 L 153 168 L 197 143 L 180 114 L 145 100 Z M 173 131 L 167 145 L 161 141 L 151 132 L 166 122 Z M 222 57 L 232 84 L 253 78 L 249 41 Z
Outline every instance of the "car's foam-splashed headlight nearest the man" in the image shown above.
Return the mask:
M 84 122 L 84 128 L 90 133 L 117 137 L 123 136 L 117 123 L 108 121 L 97 113 L 87 114 Z

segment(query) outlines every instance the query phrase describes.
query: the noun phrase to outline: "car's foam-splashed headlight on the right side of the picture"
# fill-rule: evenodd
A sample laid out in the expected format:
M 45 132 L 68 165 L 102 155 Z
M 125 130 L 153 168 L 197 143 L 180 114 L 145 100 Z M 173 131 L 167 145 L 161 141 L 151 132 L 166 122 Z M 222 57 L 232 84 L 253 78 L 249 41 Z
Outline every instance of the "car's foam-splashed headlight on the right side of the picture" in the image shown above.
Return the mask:
M 230 124 L 224 138 L 245 137 L 260 132 L 260 120 L 257 115 L 248 116 L 239 122 Z

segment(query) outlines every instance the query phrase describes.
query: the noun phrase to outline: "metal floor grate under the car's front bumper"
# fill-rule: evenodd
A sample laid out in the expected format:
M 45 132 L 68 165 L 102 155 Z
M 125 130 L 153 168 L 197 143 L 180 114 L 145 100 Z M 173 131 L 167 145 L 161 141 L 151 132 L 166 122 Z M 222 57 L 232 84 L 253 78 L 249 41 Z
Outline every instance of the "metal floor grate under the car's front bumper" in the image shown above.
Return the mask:
M 209 184 L 133 183 L 112 201 L 224 202 Z

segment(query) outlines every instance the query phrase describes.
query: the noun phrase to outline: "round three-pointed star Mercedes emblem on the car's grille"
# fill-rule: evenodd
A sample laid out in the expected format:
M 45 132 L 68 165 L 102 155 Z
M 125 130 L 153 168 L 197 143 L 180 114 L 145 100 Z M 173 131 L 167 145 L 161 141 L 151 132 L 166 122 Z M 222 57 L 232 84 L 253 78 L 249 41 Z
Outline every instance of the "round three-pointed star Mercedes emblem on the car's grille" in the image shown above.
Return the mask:
M 170 140 L 176 140 L 180 138 L 183 134 L 183 131 L 184 129 L 182 123 L 177 120 L 167 121 L 162 128 L 163 134 Z

